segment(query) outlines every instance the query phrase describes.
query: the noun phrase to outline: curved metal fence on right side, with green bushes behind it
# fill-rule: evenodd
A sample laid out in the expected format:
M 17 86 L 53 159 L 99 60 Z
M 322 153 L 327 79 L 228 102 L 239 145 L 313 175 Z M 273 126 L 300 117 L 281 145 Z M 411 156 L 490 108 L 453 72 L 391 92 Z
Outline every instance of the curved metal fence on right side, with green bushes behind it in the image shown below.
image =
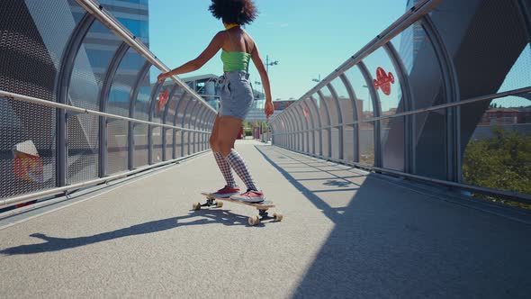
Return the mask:
M 274 144 L 531 204 L 531 5 L 409 3 L 271 121 Z

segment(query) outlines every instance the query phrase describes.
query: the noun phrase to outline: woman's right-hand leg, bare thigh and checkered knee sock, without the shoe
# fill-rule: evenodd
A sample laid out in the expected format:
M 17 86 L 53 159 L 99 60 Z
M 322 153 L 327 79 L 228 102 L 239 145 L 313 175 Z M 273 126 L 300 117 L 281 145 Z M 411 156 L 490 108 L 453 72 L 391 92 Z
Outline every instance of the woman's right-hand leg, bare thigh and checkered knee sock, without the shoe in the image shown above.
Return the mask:
M 234 141 L 241 128 L 241 120 L 232 116 L 220 117 L 220 131 L 218 131 L 218 147 L 223 157 L 227 159 L 231 168 L 245 183 L 247 190 L 258 191 L 258 186 L 251 177 L 245 161 L 234 149 Z

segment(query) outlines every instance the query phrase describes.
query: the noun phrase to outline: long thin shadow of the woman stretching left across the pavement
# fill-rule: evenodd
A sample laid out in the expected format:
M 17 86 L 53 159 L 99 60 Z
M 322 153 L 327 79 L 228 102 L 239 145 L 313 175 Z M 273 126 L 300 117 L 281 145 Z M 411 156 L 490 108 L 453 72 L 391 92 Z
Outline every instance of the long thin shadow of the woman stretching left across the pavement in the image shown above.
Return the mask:
M 195 220 L 193 222 L 182 222 L 185 219 L 202 216 L 205 218 Z M 23 255 L 41 252 L 52 252 L 63 249 L 73 249 L 89 244 L 103 242 L 106 240 L 120 239 L 123 237 L 142 235 L 153 233 L 157 231 L 167 231 L 175 229 L 179 226 L 187 225 L 203 225 L 209 223 L 222 223 L 223 225 L 248 225 L 247 216 L 239 215 L 237 213 L 230 213 L 227 210 L 199 210 L 188 213 L 180 217 L 166 218 L 154 222 L 145 222 L 123 228 L 116 231 L 108 231 L 88 237 L 77 238 L 55 238 L 49 237 L 43 233 L 33 233 L 30 236 L 45 240 L 45 243 L 30 244 L 12 247 L 9 249 L 0 250 L 3 255 Z M 258 225 L 260 226 L 260 225 Z M 261 225 L 263 226 L 263 224 Z

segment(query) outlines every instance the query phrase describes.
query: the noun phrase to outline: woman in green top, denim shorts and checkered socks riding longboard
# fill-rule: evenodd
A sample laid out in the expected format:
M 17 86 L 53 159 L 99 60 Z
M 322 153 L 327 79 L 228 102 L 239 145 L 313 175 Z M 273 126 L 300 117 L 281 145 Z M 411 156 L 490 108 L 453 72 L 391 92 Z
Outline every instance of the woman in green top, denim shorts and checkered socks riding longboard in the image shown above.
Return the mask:
M 241 29 L 241 25 L 252 23 L 257 17 L 257 7 L 253 0 L 212 0 L 209 7 L 212 15 L 221 19 L 225 31 L 218 32 L 208 47 L 197 57 L 183 66 L 175 68 L 158 76 L 158 82 L 166 77 L 192 72 L 201 68 L 220 49 L 223 61 L 224 75 L 220 78 L 222 90 L 220 94 L 220 112 L 216 117 L 211 132 L 210 144 L 214 158 L 225 178 L 226 186 L 211 193 L 220 197 L 259 203 L 265 200 L 265 195 L 259 190 L 257 183 L 251 177 L 245 161 L 234 149 L 234 141 L 241 128 L 241 122 L 254 102 L 253 92 L 248 81 L 248 65 L 250 60 L 257 67 L 266 91 L 266 117 L 274 113 L 271 97 L 269 77 L 266 66 L 260 57 L 255 41 Z M 240 189 L 234 181 L 232 171 L 247 186 L 247 191 L 239 195 Z

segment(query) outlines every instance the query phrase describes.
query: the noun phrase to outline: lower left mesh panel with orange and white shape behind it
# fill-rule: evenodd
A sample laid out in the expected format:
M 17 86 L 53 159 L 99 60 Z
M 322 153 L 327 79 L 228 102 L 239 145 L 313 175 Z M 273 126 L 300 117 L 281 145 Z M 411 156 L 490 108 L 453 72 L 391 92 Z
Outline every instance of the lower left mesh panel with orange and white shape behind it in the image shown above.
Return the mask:
M 0 119 L 0 198 L 54 187 L 55 109 L 0 97 Z

